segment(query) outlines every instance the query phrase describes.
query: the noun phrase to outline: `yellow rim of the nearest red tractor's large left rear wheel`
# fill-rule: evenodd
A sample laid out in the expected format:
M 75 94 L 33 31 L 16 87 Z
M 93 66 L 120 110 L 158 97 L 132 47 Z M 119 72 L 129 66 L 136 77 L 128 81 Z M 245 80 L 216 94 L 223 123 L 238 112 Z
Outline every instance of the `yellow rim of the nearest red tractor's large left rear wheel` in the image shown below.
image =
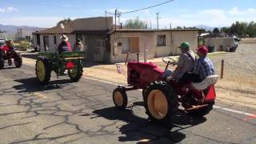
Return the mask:
M 168 103 L 165 94 L 160 90 L 152 90 L 147 98 L 147 106 L 150 114 L 157 119 L 166 117 Z

